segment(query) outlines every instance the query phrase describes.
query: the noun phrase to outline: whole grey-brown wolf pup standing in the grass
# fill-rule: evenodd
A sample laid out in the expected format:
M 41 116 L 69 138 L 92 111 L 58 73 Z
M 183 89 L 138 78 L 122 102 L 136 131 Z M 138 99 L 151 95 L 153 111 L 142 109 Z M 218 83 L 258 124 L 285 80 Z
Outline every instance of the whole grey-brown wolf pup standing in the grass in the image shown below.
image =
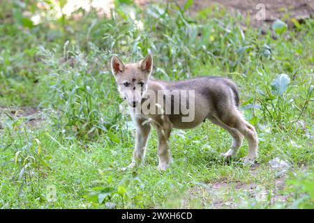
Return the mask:
M 224 77 L 197 77 L 179 82 L 151 78 L 153 57 L 148 54 L 138 63 L 124 64 L 117 56 L 111 60 L 112 74 L 121 97 L 128 102 L 136 124 L 135 150 L 128 166 L 135 167 L 145 155 L 151 125 L 158 135 L 158 169 L 165 171 L 172 162 L 170 132 L 172 128 L 195 128 L 207 118 L 232 136 L 232 146 L 224 157 L 237 154 L 243 136 L 248 140 L 248 155 L 243 161 L 257 157 L 257 133 L 244 120 L 237 107 L 237 86 Z

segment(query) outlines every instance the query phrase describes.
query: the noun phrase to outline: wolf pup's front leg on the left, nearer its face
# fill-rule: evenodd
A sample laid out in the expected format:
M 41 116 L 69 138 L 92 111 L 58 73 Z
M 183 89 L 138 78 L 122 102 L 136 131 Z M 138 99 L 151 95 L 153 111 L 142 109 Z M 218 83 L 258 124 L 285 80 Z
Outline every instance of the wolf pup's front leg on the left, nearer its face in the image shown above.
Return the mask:
M 145 122 L 144 119 L 135 118 L 135 123 L 136 123 L 135 149 L 133 152 L 133 160 L 131 164 L 128 166 L 129 168 L 135 167 L 144 159 L 147 139 L 149 137 L 149 132 L 151 131 L 150 123 Z

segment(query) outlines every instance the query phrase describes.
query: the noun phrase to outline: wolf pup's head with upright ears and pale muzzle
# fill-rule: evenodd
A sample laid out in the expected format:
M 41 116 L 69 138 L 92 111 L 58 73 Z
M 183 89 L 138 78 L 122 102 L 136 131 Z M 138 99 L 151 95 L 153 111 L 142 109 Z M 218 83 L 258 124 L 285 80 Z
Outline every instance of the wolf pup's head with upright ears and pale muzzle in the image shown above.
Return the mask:
M 130 107 L 137 107 L 147 91 L 147 82 L 153 70 L 153 56 L 148 54 L 137 63 L 124 64 L 118 56 L 112 56 L 111 69 L 121 96 Z

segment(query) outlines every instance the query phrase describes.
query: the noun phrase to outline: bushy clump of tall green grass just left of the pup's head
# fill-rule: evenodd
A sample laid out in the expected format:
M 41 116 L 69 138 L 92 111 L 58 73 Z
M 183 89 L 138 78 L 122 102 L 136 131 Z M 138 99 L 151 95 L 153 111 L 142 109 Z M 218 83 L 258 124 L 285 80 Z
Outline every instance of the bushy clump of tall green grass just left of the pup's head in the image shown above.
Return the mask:
M 47 56 L 45 63 L 52 69 L 43 79 L 49 83 L 50 118 L 60 133 L 66 131 L 66 136 L 91 139 L 110 128 L 117 111 L 110 111 L 112 108 L 108 106 L 115 103 L 105 91 L 110 87 L 105 83 L 110 74 L 100 72 L 101 60 L 95 59 L 94 54 L 85 56 L 79 50 L 67 51 L 66 45 L 66 61 L 61 64 L 52 52 L 40 49 L 40 54 Z

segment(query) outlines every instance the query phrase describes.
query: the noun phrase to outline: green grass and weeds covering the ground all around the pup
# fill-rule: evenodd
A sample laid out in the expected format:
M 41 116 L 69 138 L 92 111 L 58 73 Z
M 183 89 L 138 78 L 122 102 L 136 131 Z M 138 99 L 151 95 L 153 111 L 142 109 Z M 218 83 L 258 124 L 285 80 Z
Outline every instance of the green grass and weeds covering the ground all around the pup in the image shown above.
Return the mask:
M 47 10 L 2 5 L 1 208 L 314 208 L 313 19 L 274 39 L 270 30 L 243 31 L 241 17 L 217 6 L 190 17 L 172 3 L 146 11 L 121 4 L 111 18 L 91 11 L 34 25 L 18 12 Z M 109 61 L 113 54 L 137 61 L 147 52 L 160 79 L 234 79 L 240 109 L 260 138 L 257 164 L 240 161 L 246 141 L 226 163 L 220 153 L 230 136 L 207 121 L 172 132 L 174 164 L 165 173 L 156 168 L 155 131 L 144 163 L 121 170 L 135 132 L 119 112 Z M 283 73 L 290 84 L 274 84 Z M 34 107 L 43 121 L 13 116 L 3 109 L 10 106 Z M 284 174 L 271 169 L 275 157 L 290 164 Z

